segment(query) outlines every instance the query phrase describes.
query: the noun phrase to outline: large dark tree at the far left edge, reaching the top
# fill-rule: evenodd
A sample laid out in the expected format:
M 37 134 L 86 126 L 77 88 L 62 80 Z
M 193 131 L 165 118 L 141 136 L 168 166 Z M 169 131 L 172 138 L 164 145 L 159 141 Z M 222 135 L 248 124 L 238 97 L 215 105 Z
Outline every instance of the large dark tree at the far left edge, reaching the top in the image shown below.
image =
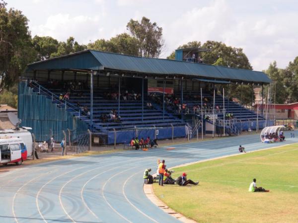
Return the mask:
M 19 10 L 7 9 L 0 0 L 0 92 L 11 87 L 35 58 L 28 19 Z

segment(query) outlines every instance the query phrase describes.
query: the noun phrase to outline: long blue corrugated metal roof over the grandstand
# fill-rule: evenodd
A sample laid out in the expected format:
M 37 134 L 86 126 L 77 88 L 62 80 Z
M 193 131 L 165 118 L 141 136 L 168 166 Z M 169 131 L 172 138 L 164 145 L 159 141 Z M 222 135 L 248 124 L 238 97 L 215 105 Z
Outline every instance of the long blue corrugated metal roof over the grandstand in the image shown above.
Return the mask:
M 28 65 L 28 69 L 93 69 L 119 70 L 159 75 L 184 75 L 196 78 L 270 83 L 263 72 L 191 63 L 171 59 L 128 56 L 93 50 L 60 56 Z

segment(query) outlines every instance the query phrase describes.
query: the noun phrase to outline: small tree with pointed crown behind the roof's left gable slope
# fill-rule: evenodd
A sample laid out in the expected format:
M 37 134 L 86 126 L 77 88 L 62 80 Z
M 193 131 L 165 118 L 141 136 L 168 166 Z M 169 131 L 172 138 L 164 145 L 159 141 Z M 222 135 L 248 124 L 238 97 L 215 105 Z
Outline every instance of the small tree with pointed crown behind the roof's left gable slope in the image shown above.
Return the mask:
M 73 54 L 75 52 L 86 50 L 86 48 L 87 47 L 85 45 L 79 45 L 76 41 L 74 41 L 74 37 L 70 37 L 66 42 L 59 43 L 57 52 L 52 53 L 51 57 Z

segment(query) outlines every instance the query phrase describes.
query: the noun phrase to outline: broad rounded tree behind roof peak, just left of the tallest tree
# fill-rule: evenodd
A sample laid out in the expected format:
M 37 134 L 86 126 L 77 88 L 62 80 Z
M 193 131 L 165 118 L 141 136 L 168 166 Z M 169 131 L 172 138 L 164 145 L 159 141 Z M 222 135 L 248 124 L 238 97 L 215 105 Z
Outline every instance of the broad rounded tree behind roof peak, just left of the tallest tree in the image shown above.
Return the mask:
M 112 37 L 110 40 L 96 40 L 94 43 L 88 44 L 87 47 L 90 50 L 140 56 L 139 41 L 127 33 L 122 33 L 116 37 Z

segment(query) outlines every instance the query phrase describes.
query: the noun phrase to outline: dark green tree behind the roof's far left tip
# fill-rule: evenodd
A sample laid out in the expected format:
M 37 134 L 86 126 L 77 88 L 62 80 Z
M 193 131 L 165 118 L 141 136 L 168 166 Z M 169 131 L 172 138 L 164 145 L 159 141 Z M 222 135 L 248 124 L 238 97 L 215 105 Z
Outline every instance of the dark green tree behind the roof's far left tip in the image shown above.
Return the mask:
M 34 36 L 32 44 L 38 53 L 36 58 L 37 61 L 50 58 L 52 54 L 57 53 L 59 46 L 58 40 L 50 36 Z

